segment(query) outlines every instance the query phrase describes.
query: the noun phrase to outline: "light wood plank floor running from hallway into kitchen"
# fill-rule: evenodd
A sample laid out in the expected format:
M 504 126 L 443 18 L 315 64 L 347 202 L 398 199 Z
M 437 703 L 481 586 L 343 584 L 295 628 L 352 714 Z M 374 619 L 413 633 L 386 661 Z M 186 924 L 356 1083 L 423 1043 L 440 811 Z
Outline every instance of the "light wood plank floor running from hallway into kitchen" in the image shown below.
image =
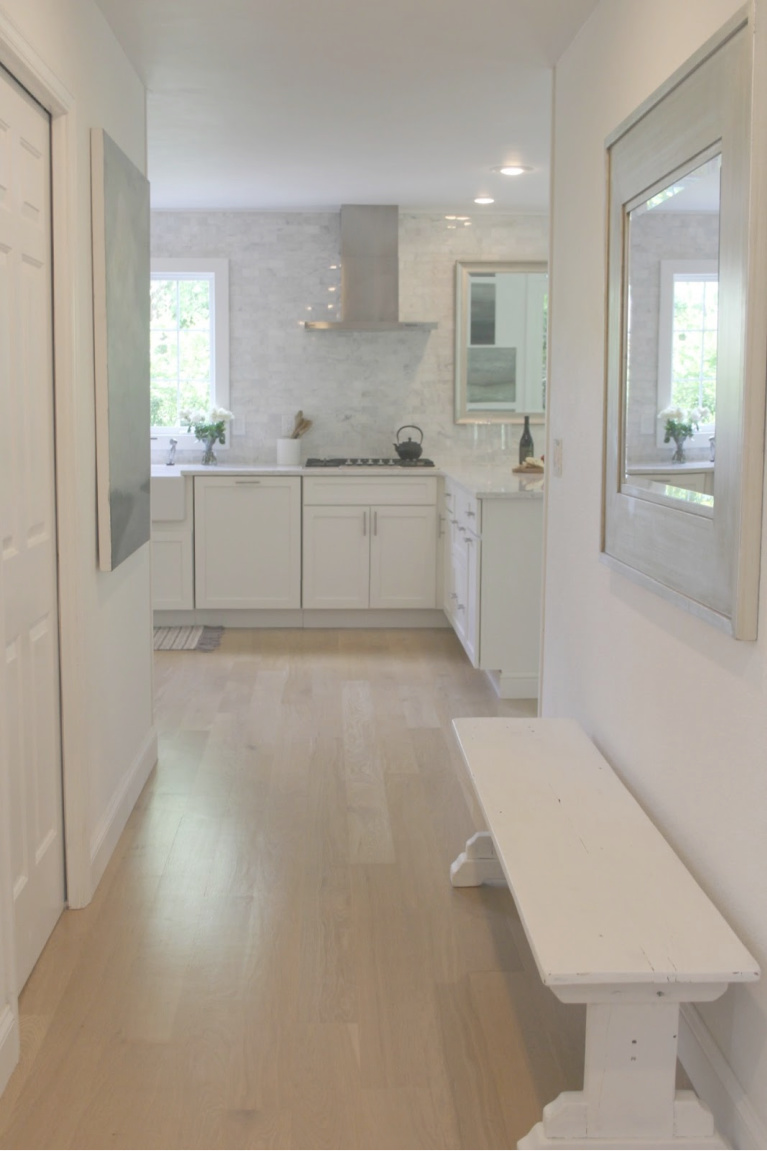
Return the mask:
M 511 898 L 450 719 L 449 631 L 228 631 L 158 653 L 160 762 L 22 994 L 3 1148 L 512 1148 L 580 1087 L 583 1014 Z

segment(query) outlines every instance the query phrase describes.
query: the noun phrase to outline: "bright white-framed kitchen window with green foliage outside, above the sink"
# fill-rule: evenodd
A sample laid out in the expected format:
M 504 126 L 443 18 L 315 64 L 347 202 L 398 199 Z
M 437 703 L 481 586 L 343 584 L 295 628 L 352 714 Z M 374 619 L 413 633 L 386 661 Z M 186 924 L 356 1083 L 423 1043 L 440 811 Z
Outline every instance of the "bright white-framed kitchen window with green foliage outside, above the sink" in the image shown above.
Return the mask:
M 229 261 L 153 259 L 152 436 L 191 447 L 181 412 L 229 406 Z

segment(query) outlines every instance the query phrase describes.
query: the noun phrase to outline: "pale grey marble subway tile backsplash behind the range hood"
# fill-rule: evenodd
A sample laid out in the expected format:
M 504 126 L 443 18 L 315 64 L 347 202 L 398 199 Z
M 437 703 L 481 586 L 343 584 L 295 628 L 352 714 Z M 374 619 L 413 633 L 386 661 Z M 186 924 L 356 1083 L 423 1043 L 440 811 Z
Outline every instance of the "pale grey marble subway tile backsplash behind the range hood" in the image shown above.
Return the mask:
M 339 226 L 335 212 L 153 214 L 153 256 L 229 260 L 229 406 L 237 419 L 221 460 L 274 463 L 298 409 L 313 421 L 303 458 L 393 456 L 396 429 L 417 424 L 424 455 L 438 464 L 512 459 L 518 426 L 453 422 L 455 261 L 546 259 L 547 218 L 474 214 L 470 227 L 449 229 L 443 215 L 401 212 L 400 318 L 439 327 L 306 331 L 305 319 L 337 318 Z M 542 427 L 536 433 L 540 451 Z M 179 460 L 196 456 L 180 452 Z

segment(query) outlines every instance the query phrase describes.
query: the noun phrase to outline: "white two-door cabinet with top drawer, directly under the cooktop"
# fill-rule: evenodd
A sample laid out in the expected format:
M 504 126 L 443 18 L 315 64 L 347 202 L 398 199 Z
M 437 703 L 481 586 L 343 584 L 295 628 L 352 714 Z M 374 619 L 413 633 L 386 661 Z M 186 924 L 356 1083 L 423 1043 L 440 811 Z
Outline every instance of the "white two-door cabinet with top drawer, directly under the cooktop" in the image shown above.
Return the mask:
M 436 480 L 304 480 L 303 564 L 304 608 L 436 607 Z

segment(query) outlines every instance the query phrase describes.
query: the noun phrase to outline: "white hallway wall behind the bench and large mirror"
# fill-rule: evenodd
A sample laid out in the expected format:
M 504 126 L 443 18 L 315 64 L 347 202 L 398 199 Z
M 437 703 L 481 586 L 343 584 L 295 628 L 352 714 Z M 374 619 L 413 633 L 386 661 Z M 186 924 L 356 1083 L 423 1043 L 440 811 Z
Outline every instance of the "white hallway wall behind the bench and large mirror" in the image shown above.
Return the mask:
M 549 436 L 564 467 L 548 482 L 541 706 L 584 724 L 767 967 L 767 587 L 759 640 L 736 642 L 599 562 L 605 137 L 738 7 L 602 0 L 556 69 Z M 767 980 L 701 1017 L 729 1090 L 705 1060 L 698 1088 L 736 1146 L 767 1146 Z

